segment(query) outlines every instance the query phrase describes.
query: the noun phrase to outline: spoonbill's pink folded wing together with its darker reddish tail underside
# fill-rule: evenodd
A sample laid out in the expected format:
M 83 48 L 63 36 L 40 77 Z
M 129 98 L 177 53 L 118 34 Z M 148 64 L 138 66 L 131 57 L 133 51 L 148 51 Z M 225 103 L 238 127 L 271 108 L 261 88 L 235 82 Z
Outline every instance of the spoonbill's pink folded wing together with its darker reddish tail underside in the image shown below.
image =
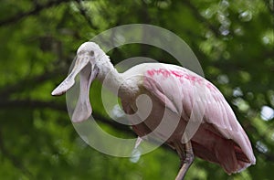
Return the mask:
M 163 66 L 164 69 L 147 69 L 144 72 L 143 87 L 167 108 L 173 111 L 182 109 L 182 132 L 191 113 L 200 111 L 193 109 L 195 99 L 205 101 L 203 122 L 191 139 L 194 154 L 206 161 L 220 164 L 229 175 L 255 164 L 248 136 L 221 92 L 211 82 L 188 69 Z M 173 88 L 174 84 L 180 86 Z M 139 131 L 143 132 L 137 128 L 137 132 Z M 173 135 L 176 137 L 176 134 Z M 181 136 L 182 134 L 179 137 Z M 168 144 L 173 146 L 174 139 L 170 139 L 172 140 Z

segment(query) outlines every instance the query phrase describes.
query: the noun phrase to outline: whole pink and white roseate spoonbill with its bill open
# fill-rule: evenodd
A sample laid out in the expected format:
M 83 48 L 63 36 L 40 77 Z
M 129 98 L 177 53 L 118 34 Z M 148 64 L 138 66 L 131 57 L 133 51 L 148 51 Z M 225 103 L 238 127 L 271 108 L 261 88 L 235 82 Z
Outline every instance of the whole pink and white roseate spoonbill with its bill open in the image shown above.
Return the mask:
M 73 112 L 73 122 L 81 122 L 90 117 L 90 84 L 93 79 L 103 82 L 109 73 L 111 79 L 104 85 L 110 90 L 119 89 L 118 96 L 127 114 L 137 111 L 135 101 L 141 94 L 146 94 L 153 102 L 146 119 L 132 125 L 133 131 L 139 137 L 157 127 L 164 109 L 168 110 L 171 122 L 174 117 L 179 117 L 174 132 L 168 137 L 164 137 L 164 132 L 156 134 L 160 139 L 166 138 L 165 143 L 180 156 L 182 166 L 176 180 L 184 179 L 195 156 L 221 165 L 228 175 L 256 163 L 248 136 L 221 92 L 194 72 L 170 64 L 143 63 L 119 73 L 96 43 L 85 42 L 77 51 L 74 68 L 67 79 L 52 91 L 52 95 L 61 95 L 70 89 L 78 73 L 79 101 Z M 197 103 L 204 101 L 204 110 L 201 106 L 194 107 L 195 98 L 201 100 Z M 192 113 L 198 114 L 199 111 L 204 111 L 201 124 L 191 139 L 183 141 L 186 124 L 191 120 Z

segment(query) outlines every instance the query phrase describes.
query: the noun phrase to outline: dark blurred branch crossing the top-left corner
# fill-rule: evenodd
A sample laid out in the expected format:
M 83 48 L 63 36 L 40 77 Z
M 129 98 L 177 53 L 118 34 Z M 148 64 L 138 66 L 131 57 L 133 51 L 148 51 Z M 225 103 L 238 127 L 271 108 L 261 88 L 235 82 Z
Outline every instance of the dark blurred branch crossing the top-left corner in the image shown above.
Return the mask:
M 44 5 L 35 5 L 35 8 L 32 9 L 32 10 L 30 10 L 30 11 L 23 12 L 23 13 L 18 13 L 15 16 L 10 16 L 10 17 L 8 17 L 8 18 L 0 21 L 0 26 L 6 26 L 6 25 L 10 25 L 10 24 L 16 23 L 17 21 L 25 18 L 26 16 L 37 15 L 43 9 L 46 9 L 46 8 L 54 6 L 54 5 L 59 5 L 61 3 L 68 2 L 68 1 L 70 1 L 70 0 L 51 0 L 51 1 L 48 1 Z

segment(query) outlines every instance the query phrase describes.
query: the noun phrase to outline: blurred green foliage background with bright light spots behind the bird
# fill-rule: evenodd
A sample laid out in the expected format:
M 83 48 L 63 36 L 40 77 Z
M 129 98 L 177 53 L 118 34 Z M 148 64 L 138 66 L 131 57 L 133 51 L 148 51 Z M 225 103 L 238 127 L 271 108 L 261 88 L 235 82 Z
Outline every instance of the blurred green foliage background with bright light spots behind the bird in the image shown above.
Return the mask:
M 169 29 L 193 49 L 205 78 L 223 92 L 253 145 L 257 164 L 226 175 L 198 158 L 186 179 L 273 179 L 273 0 L 1 0 L 0 179 L 174 179 L 176 153 L 163 146 L 136 162 L 101 154 L 75 132 L 65 96 L 50 95 L 68 74 L 81 43 L 132 23 Z M 178 64 L 161 49 L 126 45 L 114 64 L 143 56 Z M 111 134 L 135 137 L 111 121 L 91 88 L 93 114 Z

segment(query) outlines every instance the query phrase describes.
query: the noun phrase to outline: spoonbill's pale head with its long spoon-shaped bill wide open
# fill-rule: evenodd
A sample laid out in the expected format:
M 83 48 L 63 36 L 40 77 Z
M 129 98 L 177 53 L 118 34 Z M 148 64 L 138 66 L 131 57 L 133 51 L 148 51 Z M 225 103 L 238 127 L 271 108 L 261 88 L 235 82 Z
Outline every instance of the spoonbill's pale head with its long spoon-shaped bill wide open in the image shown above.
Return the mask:
M 72 122 L 82 122 L 90 117 L 90 84 L 99 73 L 96 64 L 103 56 L 105 53 L 96 43 L 83 43 L 77 50 L 76 61 L 68 77 L 51 92 L 53 96 L 64 94 L 74 85 L 75 77 L 80 75 L 79 101 L 73 112 Z

